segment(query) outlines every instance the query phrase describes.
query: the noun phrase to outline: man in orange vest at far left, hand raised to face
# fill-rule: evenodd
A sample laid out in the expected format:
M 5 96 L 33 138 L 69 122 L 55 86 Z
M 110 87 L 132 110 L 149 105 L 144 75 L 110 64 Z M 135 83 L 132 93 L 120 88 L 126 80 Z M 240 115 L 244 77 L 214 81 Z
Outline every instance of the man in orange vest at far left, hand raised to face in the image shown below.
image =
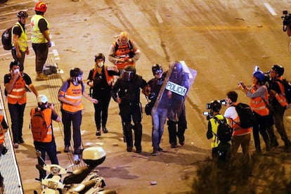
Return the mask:
M 10 72 L 4 76 L 5 90 L 7 93 L 8 110 L 11 115 L 11 129 L 14 148 L 19 143 L 24 143 L 22 138 L 23 116 L 27 102 L 26 86 L 38 96 L 37 89 L 32 84 L 32 79 L 25 72 L 20 72 L 20 63 L 10 63 Z

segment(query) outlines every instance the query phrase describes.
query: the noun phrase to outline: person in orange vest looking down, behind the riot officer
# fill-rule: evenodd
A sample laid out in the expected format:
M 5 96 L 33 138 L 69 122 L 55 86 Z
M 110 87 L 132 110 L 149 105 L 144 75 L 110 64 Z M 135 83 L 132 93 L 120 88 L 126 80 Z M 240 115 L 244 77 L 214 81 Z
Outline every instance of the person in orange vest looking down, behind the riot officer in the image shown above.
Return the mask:
M 122 70 L 127 65 L 136 65 L 141 51 L 133 40 L 129 39 L 127 32 L 120 32 L 119 37 L 110 46 L 108 60 Z

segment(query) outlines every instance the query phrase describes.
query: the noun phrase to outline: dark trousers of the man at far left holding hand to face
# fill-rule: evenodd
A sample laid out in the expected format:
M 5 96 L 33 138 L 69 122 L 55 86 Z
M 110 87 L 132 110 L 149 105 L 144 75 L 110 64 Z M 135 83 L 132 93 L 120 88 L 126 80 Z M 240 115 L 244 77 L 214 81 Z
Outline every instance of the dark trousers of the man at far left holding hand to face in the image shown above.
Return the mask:
M 26 103 L 19 105 L 9 104 L 8 110 L 11 117 L 11 129 L 13 134 L 13 143 L 19 143 L 22 141 L 22 126 L 23 126 L 23 114 L 25 111 Z

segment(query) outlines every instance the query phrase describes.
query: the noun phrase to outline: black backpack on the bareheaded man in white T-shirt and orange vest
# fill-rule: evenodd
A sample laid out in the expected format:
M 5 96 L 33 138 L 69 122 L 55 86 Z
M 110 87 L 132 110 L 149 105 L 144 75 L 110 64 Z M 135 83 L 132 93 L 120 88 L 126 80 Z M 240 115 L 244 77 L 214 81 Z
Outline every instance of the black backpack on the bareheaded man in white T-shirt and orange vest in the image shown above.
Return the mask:
M 254 112 L 252 112 L 250 105 L 238 103 L 238 105 L 235 105 L 235 110 L 238 112 L 238 117 L 240 117 L 240 123 L 235 123 L 243 129 L 252 127 L 257 122 L 257 118 L 254 116 Z

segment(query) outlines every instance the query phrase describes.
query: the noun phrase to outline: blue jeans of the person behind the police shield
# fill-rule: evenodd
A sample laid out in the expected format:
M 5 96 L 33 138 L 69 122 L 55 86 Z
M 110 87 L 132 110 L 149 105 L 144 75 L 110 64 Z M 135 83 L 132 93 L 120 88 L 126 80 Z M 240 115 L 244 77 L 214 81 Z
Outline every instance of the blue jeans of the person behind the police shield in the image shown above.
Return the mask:
M 160 146 L 160 141 L 162 134 L 164 134 L 164 123 L 167 119 L 167 108 L 157 108 L 155 112 L 151 112 L 153 131 L 152 131 L 152 141 L 153 148 L 157 149 Z

